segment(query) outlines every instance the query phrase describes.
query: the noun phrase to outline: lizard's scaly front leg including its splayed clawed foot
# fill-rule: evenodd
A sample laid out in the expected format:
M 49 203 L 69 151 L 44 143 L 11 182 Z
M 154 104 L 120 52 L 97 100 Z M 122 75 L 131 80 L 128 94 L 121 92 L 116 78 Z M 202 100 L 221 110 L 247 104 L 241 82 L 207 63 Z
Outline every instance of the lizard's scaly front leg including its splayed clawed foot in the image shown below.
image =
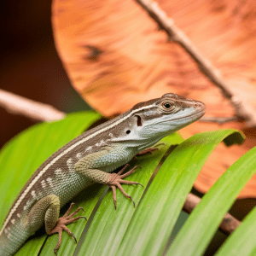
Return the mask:
M 130 175 L 132 172 L 134 172 L 138 166 L 133 167 L 131 171 L 126 172 L 124 175 L 121 175 L 121 174 L 122 172 L 125 171 L 125 169 L 129 165 L 126 165 L 118 173 L 108 173 L 112 171 L 111 168 L 115 169 L 114 167 L 111 167 L 111 166 L 119 167 L 122 165 L 122 164 L 119 164 L 118 166 L 118 164 L 116 163 L 117 160 L 119 160 L 119 162 L 121 161 L 120 155 L 123 158 L 125 158 L 124 151 L 121 152 L 121 154 L 119 154 L 119 151 L 117 151 L 116 148 L 113 149 L 110 147 L 108 148 L 108 150 L 103 149 L 102 151 L 99 151 L 93 154 L 88 154 L 75 164 L 75 171 L 83 174 L 85 177 L 88 177 L 88 179 L 90 179 L 90 181 L 92 182 L 108 185 L 113 190 L 113 204 L 115 208 L 116 208 L 116 187 L 119 188 L 119 190 L 123 195 L 125 195 L 125 197 L 131 199 L 135 207 L 135 202 L 131 198 L 131 195 L 128 195 L 125 193 L 125 190 L 122 188 L 121 183 L 142 185 L 141 183 L 126 181 L 122 179 Z M 125 159 L 123 161 L 125 161 Z M 126 162 L 127 161 L 128 159 L 126 160 Z M 100 169 L 106 170 L 106 172 Z

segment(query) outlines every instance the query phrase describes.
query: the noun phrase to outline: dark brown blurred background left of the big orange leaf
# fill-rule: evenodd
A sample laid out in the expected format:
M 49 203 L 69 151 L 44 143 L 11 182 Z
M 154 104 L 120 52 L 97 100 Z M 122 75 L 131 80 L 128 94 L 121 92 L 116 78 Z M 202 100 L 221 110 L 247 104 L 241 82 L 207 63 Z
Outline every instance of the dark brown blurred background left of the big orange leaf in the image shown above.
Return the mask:
M 1 3 L 0 88 L 67 113 L 88 109 L 62 67 L 50 19 L 49 0 Z M 34 124 L 3 108 L 0 108 L 0 119 L 0 148 Z

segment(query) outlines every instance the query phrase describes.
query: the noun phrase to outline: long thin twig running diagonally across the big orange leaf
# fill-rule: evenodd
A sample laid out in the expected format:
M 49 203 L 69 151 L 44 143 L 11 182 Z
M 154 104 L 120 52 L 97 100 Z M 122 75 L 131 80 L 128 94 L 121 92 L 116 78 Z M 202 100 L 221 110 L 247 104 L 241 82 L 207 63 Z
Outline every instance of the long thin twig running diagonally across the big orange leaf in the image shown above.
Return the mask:
M 160 29 L 168 34 L 169 40 L 175 41 L 185 49 L 195 60 L 201 72 L 204 73 L 213 84 L 218 86 L 223 96 L 230 101 L 239 119 L 244 119 L 250 127 L 256 126 L 256 111 L 243 101 L 241 97 L 235 96 L 230 87 L 224 83 L 224 80 L 216 67 L 205 58 L 182 30 L 174 25 L 173 20 L 167 17 L 166 13 L 160 9 L 157 3 L 148 0 L 136 0 L 143 9 L 148 12 Z

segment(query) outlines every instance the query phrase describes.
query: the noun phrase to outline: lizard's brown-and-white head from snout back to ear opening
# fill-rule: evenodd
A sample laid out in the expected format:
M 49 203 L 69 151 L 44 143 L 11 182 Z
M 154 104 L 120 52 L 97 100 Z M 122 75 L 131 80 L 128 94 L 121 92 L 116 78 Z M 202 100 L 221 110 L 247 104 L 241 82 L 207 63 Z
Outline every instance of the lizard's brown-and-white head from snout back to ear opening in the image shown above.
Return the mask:
M 165 137 L 166 135 L 187 126 L 206 113 L 206 106 L 198 102 L 168 93 L 160 98 L 141 102 L 131 108 L 133 119 L 136 119 L 139 137 L 146 139 Z

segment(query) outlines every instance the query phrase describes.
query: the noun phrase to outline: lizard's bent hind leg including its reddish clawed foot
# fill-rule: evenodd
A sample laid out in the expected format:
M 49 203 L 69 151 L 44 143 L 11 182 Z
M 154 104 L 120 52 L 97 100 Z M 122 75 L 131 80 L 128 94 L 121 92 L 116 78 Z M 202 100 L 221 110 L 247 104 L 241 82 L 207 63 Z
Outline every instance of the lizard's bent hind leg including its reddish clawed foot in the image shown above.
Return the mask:
M 45 230 L 48 235 L 59 233 L 59 240 L 54 249 L 56 255 L 58 248 L 61 246 L 61 235 L 63 230 L 67 231 L 67 233 L 70 236 L 73 236 L 74 240 L 77 241 L 73 233 L 67 229 L 66 225 L 73 223 L 79 218 L 85 218 L 84 216 L 73 218 L 79 212 L 79 210 L 84 210 L 82 207 L 79 207 L 76 211 L 68 215 L 71 212 L 73 204 L 74 203 L 72 203 L 67 212 L 61 218 L 59 218 L 59 197 L 57 195 L 47 195 L 32 207 L 26 218 L 26 228 L 30 230 L 32 234 L 38 230 L 42 224 L 45 224 Z

